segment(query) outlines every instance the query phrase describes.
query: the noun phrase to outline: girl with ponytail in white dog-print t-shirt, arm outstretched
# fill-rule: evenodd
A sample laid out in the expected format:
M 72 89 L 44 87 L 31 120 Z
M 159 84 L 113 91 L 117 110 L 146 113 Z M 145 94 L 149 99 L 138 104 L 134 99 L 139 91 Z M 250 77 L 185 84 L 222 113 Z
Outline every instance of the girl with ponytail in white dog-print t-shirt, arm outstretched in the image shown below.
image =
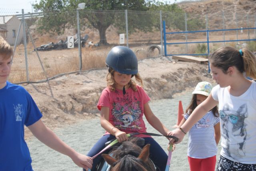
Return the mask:
M 256 170 L 256 57 L 247 49 L 222 47 L 209 58 L 212 78 L 218 85 L 191 113 L 180 129 L 169 135 L 179 138 L 218 104 L 221 146 L 216 171 Z

